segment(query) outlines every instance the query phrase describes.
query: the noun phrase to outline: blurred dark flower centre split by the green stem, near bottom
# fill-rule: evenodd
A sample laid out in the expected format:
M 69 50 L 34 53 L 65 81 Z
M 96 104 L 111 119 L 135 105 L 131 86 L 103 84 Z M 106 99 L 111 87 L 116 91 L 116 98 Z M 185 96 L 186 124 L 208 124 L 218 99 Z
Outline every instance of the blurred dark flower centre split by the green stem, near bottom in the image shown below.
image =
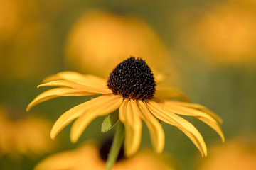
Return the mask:
M 107 140 L 105 140 L 101 147 L 100 147 L 100 157 L 102 160 L 104 160 L 105 162 L 107 161 L 107 157 L 108 154 L 110 153 L 110 147 L 112 145 L 113 142 L 113 138 L 108 138 Z M 122 145 L 120 152 L 117 156 L 117 161 L 124 159 L 124 146 Z

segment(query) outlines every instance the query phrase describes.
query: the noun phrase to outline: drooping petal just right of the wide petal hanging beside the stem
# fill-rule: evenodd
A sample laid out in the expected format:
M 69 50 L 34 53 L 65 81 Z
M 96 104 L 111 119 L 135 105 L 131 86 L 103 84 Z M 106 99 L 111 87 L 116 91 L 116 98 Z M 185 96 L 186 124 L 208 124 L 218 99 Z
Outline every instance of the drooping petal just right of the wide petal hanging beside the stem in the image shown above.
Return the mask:
M 161 123 L 154 118 L 154 115 L 150 113 L 143 101 L 137 101 L 137 104 L 140 109 L 142 120 L 144 120 L 149 128 L 153 147 L 157 153 L 161 153 L 164 149 L 164 130 Z

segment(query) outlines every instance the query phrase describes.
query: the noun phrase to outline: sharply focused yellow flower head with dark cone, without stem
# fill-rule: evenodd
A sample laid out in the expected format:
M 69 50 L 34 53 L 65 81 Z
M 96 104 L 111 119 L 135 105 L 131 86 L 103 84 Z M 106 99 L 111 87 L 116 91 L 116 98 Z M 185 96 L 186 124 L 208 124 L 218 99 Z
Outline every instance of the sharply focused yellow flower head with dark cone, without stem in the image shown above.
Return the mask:
M 218 132 L 224 140 L 223 132 L 218 125 L 221 119 L 215 113 L 198 104 L 167 100 L 166 98 L 185 97 L 173 88 L 156 88 L 151 69 L 142 59 L 130 57 L 124 60 L 110 73 L 107 82 L 88 74 L 60 72 L 48 77 L 46 83 L 38 87 L 41 86 L 59 86 L 60 88 L 50 89 L 37 96 L 28 105 L 28 110 L 38 103 L 58 96 L 102 94 L 63 113 L 53 125 L 50 132 L 52 138 L 76 119 L 70 132 L 71 141 L 76 142 L 92 120 L 98 116 L 108 115 L 119 108 L 119 120 L 124 123 L 125 128 L 124 149 L 127 156 L 131 156 L 139 148 L 142 120 L 149 128 L 156 152 L 162 152 L 164 149 L 164 130 L 159 123 L 159 120 L 162 120 L 183 131 L 198 147 L 201 154 L 206 156 L 206 144 L 200 132 L 178 115 L 198 118 Z

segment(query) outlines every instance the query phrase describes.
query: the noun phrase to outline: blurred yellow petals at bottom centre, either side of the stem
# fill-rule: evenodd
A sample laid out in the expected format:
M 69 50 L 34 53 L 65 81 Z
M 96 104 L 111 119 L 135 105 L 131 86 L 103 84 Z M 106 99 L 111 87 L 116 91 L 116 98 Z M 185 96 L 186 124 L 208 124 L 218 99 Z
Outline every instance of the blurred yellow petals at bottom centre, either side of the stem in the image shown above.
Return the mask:
M 110 149 L 110 148 L 109 148 Z M 105 169 L 104 148 L 95 142 L 87 142 L 78 149 L 60 152 L 46 159 L 43 159 L 35 170 L 82 170 L 82 169 Z M 119 159 L 112 167 L 112 170 L 173 170 L 170 166 L 174 162 L 167 155 L 158 155 L 148 150 L 137 152 L 134 157 L 125 158 L 119 155 Z

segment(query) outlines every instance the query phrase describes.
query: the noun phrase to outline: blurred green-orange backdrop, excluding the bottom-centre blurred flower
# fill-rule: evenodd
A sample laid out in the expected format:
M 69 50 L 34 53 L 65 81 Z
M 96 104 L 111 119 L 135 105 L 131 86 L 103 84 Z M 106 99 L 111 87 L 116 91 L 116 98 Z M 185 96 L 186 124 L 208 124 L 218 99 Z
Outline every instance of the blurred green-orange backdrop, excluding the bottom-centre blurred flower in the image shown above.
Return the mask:
M 256 1 L 0 0 L 0 169 L 33 169 L 44 157 L 102 141 L 97 118 L 72 144 L 70 125 L 56 140 L 50 128 L 86 97 L 26 106 L 46 89 L 44 77 L 72 70 L 107 79 L 130 55 L 223 118 L 226 142 L 188 118 L 209 148 L 202 158 L 177 128 L 164 125 L 166 145 L 181 169 L 255 169 Z M 142 148 L 151 148 L 144 125 Z M 234 165 L 231 167 L 230 165 Z

